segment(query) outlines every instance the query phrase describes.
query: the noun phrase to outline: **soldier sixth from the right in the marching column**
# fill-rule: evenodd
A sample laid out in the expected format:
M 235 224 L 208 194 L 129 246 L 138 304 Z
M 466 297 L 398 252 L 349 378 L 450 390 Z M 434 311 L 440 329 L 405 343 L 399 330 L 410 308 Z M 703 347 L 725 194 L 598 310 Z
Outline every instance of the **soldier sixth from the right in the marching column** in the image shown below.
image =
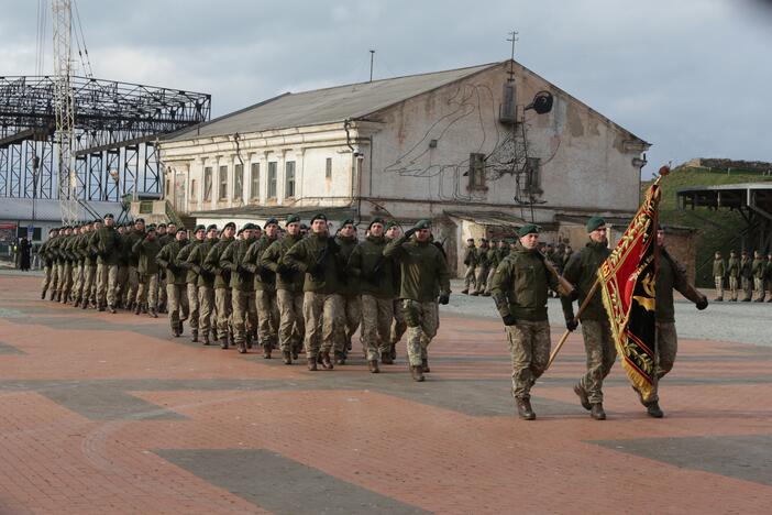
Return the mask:
M 305 274 L 287 266 L 284 255 L 298 241 L 300 235 L 300 217 L 287 217 L 287 233 L 271 243 L 262 253 L 260 265 L 275 274 L 276 304 L 279 310 L 278 340 L 284 364 L 293 364 L 298 359 L 306 331 L 302 314 Z

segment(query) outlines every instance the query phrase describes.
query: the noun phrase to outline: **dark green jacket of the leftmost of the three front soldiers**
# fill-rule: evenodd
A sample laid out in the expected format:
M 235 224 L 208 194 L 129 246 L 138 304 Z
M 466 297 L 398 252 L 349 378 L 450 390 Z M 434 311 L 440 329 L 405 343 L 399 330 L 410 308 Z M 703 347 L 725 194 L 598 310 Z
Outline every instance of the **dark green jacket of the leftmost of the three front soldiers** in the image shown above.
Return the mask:
M 549 288 L 558 288 L 558 278 L 544 265 L 541 252 L 518 242 L 496 269 L 490 293 L 501 317 L 542 321 L 547 320 Z

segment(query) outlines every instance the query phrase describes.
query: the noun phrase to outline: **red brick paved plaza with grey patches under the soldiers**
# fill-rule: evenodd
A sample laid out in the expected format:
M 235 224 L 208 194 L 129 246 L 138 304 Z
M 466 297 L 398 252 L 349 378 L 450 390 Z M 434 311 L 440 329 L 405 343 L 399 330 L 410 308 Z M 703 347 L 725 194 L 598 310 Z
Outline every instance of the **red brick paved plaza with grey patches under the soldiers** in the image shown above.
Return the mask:
M 606 421 L 580 335 L 516 418 L 499 321 L 445 314 L 426 383 L 308 372 L 38 299 L 0 275 L 0 513 L 769 513 L 772 348 L 682 339 L 646 416 L 615 365 Z M 489 299 L 487 299 L 489 302 Z M 742 328 L 738 327 L 738 331 Z M 561 335 L 553 327 L 553 343 Z

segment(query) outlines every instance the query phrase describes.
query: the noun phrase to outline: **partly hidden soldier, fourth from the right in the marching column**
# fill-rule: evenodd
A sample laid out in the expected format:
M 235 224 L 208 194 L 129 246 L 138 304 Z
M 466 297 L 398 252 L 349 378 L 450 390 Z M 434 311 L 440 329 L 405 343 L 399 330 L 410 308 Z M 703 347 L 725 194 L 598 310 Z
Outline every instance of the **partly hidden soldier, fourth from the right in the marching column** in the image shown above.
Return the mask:
M 351 253 L 356 246 L 356 227 L 354 220 L 343 220 L 341 230 L 335 238 L 335 243 L 340 248 L 339 258 L 342 265 L 349 262 Z M 351 338 L 356 332 L 362 321 L 362 302 L 360 299 L 360 284 L 351 281 L 349 276 L 341 274 L 341 295 L 343 296 L 344 320 L 341 331 L 335 338 L 335 363 L 345 364 L 345 359 L 351 350 Z

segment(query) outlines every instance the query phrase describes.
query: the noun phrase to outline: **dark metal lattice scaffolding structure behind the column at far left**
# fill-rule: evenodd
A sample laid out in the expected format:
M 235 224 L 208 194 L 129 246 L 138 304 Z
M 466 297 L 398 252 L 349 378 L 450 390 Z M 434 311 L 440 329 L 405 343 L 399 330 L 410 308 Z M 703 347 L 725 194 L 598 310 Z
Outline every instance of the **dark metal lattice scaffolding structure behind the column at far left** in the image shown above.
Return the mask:
M 201 92 L 71 77 L 69 92 L 48 76 L 0 77 L 0 197 L 119 200 L 162 194 L 162 134 L 209 120 Z M 57 96 L 58 95 L 58 96 Z M 62 97 L 64 95 L 64 97 Z M 59 98 L 73 101 L 70 184 L 59 179 Z M 60 157 L 64 155 L 65 157 Z

